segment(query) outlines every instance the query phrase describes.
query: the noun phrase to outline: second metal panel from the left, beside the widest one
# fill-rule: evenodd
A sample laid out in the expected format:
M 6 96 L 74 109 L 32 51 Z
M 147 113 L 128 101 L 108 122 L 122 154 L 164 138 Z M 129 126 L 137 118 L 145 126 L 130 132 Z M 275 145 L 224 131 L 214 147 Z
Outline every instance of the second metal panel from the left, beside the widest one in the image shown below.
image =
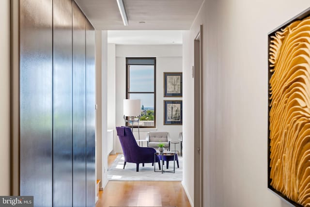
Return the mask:
M 72 206 L 72 0 L 53 0 L 53 207 Z

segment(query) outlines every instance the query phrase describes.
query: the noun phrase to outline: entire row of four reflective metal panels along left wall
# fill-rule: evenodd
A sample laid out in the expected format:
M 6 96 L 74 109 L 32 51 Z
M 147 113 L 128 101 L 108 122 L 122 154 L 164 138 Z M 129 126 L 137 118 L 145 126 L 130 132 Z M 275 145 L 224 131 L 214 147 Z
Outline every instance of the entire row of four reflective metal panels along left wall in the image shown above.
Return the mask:
M 94 30 L 72 0 L 20 0 L 20 194 L 95 206 Z

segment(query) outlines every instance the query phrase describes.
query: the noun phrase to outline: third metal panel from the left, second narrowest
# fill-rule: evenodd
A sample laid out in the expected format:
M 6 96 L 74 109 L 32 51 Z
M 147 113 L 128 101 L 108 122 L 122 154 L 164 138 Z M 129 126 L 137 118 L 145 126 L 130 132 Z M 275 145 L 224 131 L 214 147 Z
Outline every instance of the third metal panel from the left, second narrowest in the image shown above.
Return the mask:
M 86 206 L 85 16 L 75 2 L 73 24 L 73 206 Z

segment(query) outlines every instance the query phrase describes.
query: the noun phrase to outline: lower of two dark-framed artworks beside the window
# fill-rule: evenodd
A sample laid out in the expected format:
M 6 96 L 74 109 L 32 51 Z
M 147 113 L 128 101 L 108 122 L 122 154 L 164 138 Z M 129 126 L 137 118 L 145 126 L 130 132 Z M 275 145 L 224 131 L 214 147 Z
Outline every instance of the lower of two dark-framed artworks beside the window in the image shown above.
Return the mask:
M 182 125 L 182 100 L 164 100 L 164 125 Z

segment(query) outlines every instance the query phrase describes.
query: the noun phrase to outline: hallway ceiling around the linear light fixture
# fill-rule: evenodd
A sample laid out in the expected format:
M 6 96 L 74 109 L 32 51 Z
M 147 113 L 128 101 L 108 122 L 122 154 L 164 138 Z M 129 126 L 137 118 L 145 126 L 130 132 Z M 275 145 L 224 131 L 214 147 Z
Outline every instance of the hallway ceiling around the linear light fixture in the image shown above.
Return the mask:
M 116 0 L 76 0 L 96 30 L 189 30 L 202 1 L 124 0 L 124 26 Z

